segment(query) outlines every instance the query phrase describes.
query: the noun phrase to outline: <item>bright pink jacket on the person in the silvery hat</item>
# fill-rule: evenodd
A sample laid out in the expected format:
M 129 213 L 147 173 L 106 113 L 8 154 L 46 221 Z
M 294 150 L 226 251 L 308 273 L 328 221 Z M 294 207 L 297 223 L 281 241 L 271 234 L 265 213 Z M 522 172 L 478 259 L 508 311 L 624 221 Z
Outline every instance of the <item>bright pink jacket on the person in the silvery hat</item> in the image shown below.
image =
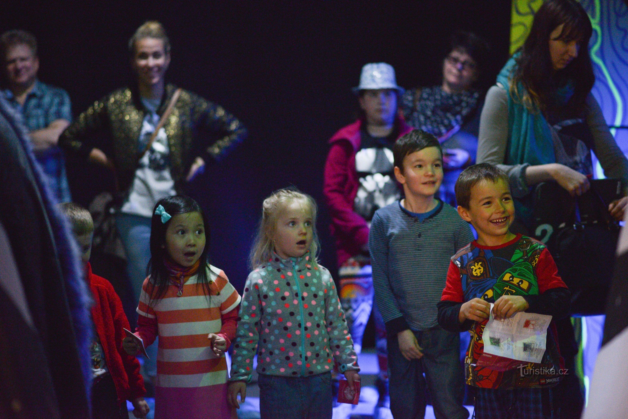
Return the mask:
M 325 162 L 323 193 L 329 208 L 332 235 L 336 238 L 338 266 L 347 259 L 360 254 L 369 242 L 369 226 L 366 220 L 354 211 L 354 200 L 359 187 L 355 171 L 355 153 L 360 148 L 362 119 L 345 126 L 333 134 L 329 143 L 332 148 Z M 399 137 L 412 131 L 400 115 L 395 122 Z

